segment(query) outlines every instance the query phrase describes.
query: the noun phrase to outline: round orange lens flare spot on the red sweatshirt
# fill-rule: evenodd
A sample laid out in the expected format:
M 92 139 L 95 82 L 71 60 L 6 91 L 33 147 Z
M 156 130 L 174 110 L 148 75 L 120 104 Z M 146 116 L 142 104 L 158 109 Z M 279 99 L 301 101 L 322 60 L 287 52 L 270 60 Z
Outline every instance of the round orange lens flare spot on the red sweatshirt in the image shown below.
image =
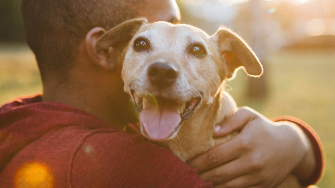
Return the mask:
M 53 185 L 53 174 L 41 163 L 26 163 L 15 174 L 15 188 L 52 188 Z

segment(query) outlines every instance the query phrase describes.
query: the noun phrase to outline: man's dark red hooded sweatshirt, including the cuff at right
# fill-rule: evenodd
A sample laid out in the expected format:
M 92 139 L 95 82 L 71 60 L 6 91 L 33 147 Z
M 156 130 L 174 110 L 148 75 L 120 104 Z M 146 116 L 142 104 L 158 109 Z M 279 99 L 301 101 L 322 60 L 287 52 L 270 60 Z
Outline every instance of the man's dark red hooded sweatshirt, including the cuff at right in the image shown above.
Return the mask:
M 41 101 L 37 95 L 0 108 L 0 188 L 40 180 L 50 188 L 212 187 L 169 149 L 80 109 Z M 312 141 L 318 169 L 302 183 L 316 183 L 324 171 L 318 135 L 299 119 L 280 120 L 296 123 Z

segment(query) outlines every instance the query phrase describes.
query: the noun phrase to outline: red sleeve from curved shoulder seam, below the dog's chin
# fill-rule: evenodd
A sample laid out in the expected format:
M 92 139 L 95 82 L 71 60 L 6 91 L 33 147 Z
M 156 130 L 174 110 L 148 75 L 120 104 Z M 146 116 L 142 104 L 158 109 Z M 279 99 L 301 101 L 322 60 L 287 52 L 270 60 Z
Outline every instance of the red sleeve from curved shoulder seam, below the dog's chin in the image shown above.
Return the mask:
M 212 187 L 169 149 L 140 135 L 95 133 L 76 151 L 71 187 Z

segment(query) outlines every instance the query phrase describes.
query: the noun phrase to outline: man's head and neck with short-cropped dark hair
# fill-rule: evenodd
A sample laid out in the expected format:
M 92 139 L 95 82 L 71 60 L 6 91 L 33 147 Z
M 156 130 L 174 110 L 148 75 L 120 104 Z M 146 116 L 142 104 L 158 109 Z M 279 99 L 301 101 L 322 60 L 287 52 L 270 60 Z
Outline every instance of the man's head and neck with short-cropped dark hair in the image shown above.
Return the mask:
M 136 17 L 178 22 L 175 0 L 22 0 L 26 41 L 43 81 L 43 100 L 74 106 L 120 125 L 129 117 L 119 57 L 108 63 L 94 44 L 106 30 Z M 106 62 L 106 61 L 105 61 Z

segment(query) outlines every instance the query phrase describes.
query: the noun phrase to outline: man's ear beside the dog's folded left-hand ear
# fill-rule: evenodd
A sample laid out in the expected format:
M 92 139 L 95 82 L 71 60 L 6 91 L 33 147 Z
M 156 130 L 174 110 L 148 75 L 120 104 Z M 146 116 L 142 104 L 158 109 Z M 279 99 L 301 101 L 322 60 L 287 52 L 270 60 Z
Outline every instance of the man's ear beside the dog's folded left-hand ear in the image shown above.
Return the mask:
M 108 49 L 106 53 L 97 53 L 95 51 L 96 42 L 105 32 L 106 30 L 102 27 L 94 27 L 88 31 L 85 37 L 86 52 L 93 63 L 103 67 L 106 70 L 112 71 L 115 68 L 115 64 L 118 58 L 113 48 Z

